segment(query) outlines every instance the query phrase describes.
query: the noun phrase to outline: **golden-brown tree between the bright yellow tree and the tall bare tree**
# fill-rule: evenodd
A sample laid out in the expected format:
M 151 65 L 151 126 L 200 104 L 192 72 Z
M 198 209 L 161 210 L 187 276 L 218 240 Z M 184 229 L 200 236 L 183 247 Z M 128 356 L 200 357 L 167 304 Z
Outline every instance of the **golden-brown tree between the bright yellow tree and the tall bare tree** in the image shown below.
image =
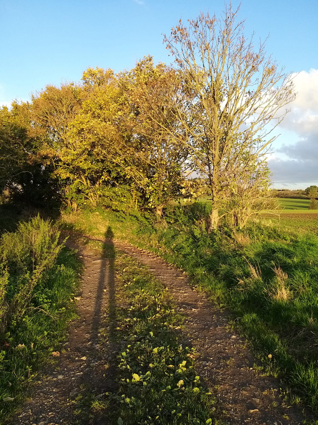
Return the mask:
M 148 56 L 122 74 L 120 82 L 131 108 L 132 140 L 118 152 L 118 159 L 144 193 L 146 206 L 161 216 L 163 207 L 181 196 L 187 173 L 188 150 L 180 144 L 186 130 L 173 104 L 181 90 L 180 75 L 163 63 L 154 65 Z M 164 130 L 165 125 L 178 133 L 178 139 Z

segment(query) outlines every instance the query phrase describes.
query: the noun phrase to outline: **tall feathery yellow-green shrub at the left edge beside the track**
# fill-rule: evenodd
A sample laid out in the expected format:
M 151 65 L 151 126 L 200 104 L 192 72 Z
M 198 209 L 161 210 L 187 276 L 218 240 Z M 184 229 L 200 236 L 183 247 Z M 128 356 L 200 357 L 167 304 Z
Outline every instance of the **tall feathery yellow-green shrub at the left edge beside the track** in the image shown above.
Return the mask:
M 59 231 L 39 216 L 20 223 L 16 232 L 4 233 L 0 241 L 0 320 L 16 320 L 25 312 L 37 285 L 45 280 L 63 244 Z

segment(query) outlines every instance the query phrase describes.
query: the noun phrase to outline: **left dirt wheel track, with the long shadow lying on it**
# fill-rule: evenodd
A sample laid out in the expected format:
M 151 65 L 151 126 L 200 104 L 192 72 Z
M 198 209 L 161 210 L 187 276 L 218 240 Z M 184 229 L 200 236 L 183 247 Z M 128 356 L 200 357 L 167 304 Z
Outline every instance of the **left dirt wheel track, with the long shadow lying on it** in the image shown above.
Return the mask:
M 114 297 L 114 260 L 109 258 L 114 248 L 109 245 L 107 258 L 94 249 L 68 245 L 79 249 L 78 255 L 84 262 L 81 291 L 76 297 L 80 317 L 70 324 L 69 338 L 61 347 L 58 363 L 36 382 L 20 414 L 10 419 L 12 425 L 105 424 L 100 414 L 90 418 L 85 406 L 79 417 L 76 409 L 74 412 L 73 401 L 81 393 L 98 398 L 105 391 L 114 390 L 112 347 L 98 344 L 103 314 Z

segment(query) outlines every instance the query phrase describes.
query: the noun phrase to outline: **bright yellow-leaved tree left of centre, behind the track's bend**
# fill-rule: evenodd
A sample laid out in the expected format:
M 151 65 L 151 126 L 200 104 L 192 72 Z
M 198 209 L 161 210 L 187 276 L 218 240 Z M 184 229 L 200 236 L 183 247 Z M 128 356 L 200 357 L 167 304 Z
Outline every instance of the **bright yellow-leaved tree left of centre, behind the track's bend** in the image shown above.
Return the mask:
M 128 157 L 131 133 L 127 97 L 114 71 L 88 68 L 81 98 L 81 109 L 67 132 L 71 148 L 64 150 L 69 167 L 65 173 L 74 180 L 82 202 L 114 208 L 136 205 L 137 191 L 127 187 L 130 182 L 118 160 L 118 153 Z

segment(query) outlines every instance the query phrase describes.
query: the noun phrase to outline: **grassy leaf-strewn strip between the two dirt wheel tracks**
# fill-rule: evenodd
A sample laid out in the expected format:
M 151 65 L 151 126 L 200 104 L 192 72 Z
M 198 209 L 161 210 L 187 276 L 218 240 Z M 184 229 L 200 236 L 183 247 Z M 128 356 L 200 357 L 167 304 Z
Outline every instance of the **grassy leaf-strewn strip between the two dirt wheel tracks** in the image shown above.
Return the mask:
M 218 422 L 215 397 L 195 373 L 195 351 L 181 342 L 184 316 L 175 312 L 165 288 L 137 261 L 118 255 L 115 267 L 116 302 L 122 306 L 110 306 L 106 326 L 113 331 L 104 337 L 104 343 L 110 339 L 120 346 L 119 388 L 103 400 L 111 423 Z

